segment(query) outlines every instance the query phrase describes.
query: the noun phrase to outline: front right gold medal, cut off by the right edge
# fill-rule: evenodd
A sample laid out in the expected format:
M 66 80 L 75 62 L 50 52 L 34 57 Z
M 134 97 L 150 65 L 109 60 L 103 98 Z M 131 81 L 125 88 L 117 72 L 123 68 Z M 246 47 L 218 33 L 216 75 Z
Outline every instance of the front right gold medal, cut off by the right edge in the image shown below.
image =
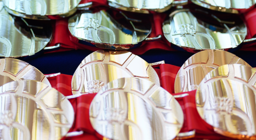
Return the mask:
M 197 111 L 217 133 L 238 139 L 255 136 L 255 72 L 245 65 L 223 65 L 200 83 Z

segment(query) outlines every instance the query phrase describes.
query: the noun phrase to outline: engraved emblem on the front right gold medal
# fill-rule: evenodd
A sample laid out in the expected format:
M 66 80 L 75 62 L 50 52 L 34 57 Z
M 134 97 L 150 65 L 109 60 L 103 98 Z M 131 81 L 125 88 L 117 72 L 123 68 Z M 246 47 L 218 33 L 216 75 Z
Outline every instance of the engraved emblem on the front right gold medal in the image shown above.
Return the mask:
M 232 113 L 231 100 L 226 97 L 216 97 L 215 98 L 215 111 L 216 112 L 226 112 L 228 114 Z

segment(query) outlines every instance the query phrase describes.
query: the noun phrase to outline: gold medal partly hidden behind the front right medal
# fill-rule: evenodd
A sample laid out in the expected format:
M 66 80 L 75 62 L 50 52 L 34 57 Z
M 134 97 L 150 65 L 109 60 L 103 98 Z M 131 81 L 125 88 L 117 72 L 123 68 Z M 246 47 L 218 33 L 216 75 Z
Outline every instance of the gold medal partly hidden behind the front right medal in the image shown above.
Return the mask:
M 191 56 L 176 75 L 175 93 L 196 90 L 205 75 L 225 64 L 243 64 L 251 67 L 243 59 L 222 50 L 204 50 Z

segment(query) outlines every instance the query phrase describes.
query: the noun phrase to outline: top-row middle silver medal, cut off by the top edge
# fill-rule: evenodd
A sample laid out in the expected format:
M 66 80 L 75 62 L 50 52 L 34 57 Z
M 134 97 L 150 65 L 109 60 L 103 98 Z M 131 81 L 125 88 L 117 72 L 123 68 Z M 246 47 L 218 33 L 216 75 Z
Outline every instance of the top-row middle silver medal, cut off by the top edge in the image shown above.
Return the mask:
M 148 14 L 149 11 L 164 12 L 172 7 L 174 0 L 108 0 L 111 7 Z

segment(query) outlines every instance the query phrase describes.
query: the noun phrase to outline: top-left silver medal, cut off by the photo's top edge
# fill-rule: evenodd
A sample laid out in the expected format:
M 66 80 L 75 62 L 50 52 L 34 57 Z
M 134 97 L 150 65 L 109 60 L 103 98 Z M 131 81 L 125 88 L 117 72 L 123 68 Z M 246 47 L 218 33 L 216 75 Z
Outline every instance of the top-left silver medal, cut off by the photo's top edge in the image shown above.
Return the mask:
M 19 17 L 30 19 L 58 19 L 76 12 L 81 0 L 2 0 L 6 10 Z

